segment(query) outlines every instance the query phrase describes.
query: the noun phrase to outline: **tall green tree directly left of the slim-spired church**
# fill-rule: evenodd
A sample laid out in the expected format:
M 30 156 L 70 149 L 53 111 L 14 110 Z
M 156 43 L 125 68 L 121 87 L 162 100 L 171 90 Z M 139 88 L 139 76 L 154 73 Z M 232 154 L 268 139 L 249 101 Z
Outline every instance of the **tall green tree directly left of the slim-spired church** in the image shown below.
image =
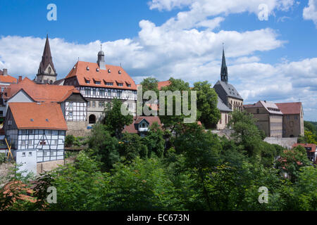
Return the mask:
M 213 127 L 220 120 L 216 91 L 207 81 L 194 83 L 192 90 L 197 91 L 197 110 L 200 112 L 199 120 L 205 127 Z

